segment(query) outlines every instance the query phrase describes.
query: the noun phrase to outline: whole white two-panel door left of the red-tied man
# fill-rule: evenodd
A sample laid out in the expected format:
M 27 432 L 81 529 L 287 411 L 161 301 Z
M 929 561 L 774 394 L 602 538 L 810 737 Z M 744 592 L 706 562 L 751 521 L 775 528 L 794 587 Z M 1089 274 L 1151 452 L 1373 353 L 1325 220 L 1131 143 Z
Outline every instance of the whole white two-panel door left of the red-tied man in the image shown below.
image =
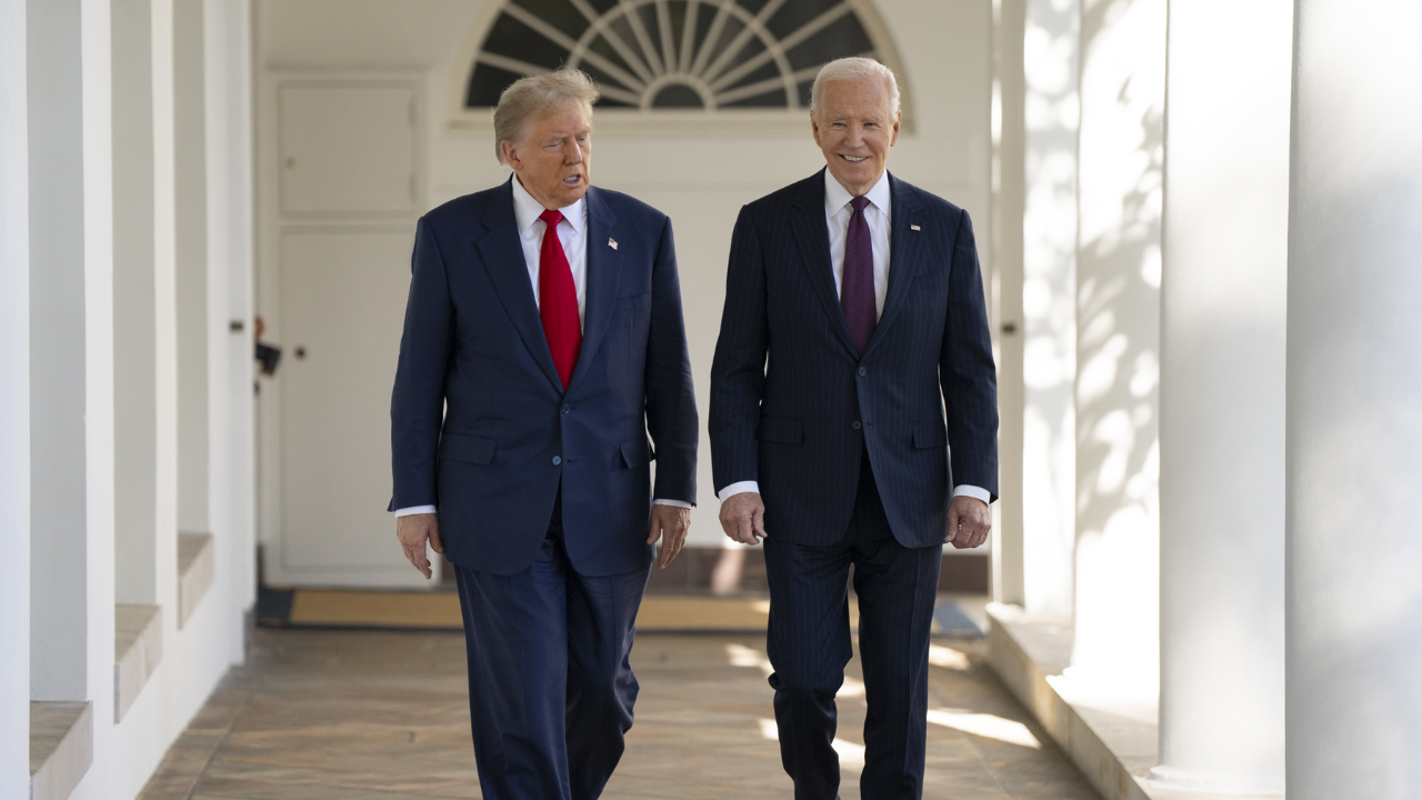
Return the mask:
M 283 363 L 266 399 L 276 497 L 266 578 L 282 585 L 428 585 L 404 558 L 391 495 L 390 391 L 422 201 L 418 84 L 274 87 L 266 249 Z M 267 309 L 263 309 L 267 310 Z M 273 541 L 276 540 L 276 541 Z M 276 547 L 270 547 L 276 545 Z

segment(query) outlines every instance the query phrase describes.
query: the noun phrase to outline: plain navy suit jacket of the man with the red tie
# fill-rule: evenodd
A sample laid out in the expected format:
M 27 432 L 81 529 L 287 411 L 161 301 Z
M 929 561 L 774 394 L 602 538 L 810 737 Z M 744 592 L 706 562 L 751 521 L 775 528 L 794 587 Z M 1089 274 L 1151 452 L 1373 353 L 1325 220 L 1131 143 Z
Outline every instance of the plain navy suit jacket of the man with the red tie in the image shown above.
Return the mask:
M 562 485 L 573 568 L 644 569 L 653 458 L 656 495 L 695 502 L 697 409 L 671 221 L 587 189 L 583 346 L 565 391 L 509 181 L 417 226 L 390 404 L 390 510 L 438 505 L 452 562 L 512 575 L 533 562 Z

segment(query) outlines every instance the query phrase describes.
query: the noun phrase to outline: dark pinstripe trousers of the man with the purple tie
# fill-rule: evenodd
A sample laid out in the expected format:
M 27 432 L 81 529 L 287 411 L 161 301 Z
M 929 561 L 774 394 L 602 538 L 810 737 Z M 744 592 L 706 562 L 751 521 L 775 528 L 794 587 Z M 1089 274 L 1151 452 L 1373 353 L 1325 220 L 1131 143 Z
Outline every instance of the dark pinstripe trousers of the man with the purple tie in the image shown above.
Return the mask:
M 869 703 L 863 800 L 923 797 L 929 710 L 929 633 L 943 545 L 906 548 L 893 538 L 867 457 L 859 468 L 845 537 L 828 548 L 775 540 L 768 531 L 771 688 L 781 762 L 795 800 L 835 800 L 839 754 L 835 693 L 853 655 L 849 565 L 859 596 L 859 656 Z

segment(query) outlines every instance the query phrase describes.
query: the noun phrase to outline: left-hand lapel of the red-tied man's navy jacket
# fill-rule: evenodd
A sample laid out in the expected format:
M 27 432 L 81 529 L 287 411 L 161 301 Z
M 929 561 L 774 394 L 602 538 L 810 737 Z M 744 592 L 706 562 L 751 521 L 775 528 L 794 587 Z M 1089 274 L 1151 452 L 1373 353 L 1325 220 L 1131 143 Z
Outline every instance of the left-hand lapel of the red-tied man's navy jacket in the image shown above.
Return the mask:
M 503 310 L 513 322 L 513 329 L 519 332 L 519 339 L 543 369 L 543 374 L 562 393 L 563 380 L 557 377 L 557 367 L 553 366 L 553 352 L 549 350 L 547 337 L 543 335 L 543 320 L 538 316 L 538 302 L 533 298 L 533 282 L 529 280 L 528 263 L 523 260 L 519 223 L 513 216 L 513 178 L 509 181 L 485 206 L 483 218 L 479 221 L 483 231 L 475 235 L 474 243 L 483 259 L 483 268 L 489 272 L 489 282 L 503 303 Z

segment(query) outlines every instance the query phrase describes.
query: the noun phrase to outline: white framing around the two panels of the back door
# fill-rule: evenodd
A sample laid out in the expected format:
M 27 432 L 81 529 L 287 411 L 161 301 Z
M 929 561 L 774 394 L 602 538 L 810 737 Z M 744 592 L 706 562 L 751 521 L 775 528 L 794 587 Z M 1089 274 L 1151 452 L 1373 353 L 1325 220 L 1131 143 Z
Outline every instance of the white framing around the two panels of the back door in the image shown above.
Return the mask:
M 283 215 L 280 208 L 280 93 L 286 87 L 299 85 L 398 85 L 408 87 L 414 98 L 415 128 L 415 188 L 411 212 L 361 212 Z M 428 71 L 419 70 L 280 70 L 259 68 L 256 74 L 255 134 L 256 154 L 253 174 L 256 179 L 256 275 L 255 313 L 266 323 L 264 339 L 289 350 L 292 343 L 282 339 L 282 268 L 280 245 L 289 231 L 331 231 L 348 228 L 361 231 L 408 225 L 429 206 L 429 154 L 432 149 L 429 125 Z M 283 360 L 290 357 L 283 352 Z M 394 380 L 394 376 L 391 376 Z M 283 531 L 283 463 L 282 463 L 282 369 L 274 377 L 257 377 L 260 387 L 255 401 L 256 409 L 256 464 L 257 464 L 257 542 L 262 551 L 262 577 L 267 585 L 277 586 L 343 586 L 351 585 L 350 572 L 328 574 L 320 569 L 290 567 L 284 558 Z M 391 518 L 391 548 L 395 542 L 395 525 Z M 363 575 L 358 586 L 375 588 L 434 588 L 439 584 L 439 559 L 432 558 L 435 579 L 425 581 L 414 567 L 400 572 L 371 571 Z

